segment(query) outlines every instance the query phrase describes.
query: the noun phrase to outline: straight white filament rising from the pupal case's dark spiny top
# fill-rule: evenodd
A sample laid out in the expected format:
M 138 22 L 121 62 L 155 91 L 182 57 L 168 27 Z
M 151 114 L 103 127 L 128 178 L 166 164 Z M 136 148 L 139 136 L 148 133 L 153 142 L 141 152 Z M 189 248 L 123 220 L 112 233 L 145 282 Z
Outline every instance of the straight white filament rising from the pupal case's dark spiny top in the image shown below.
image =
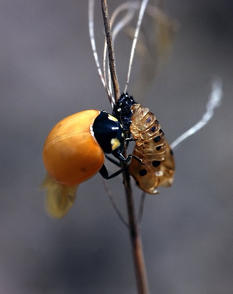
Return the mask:
M 130 78 L 130 73 L 131 73 L 131 68 L 132 68 L 132 63 L 133 63 L 133 58 L 134 58 L 134 52 L 135 52 L 136 44 L 138 41 L 139 30 L 140 30 L 141 22 L 143 19 L 143 15 L 144 15 L 147 3 L 148 3 L 148 0 L 142 0 L 141 5 L 140 5 L 139 18 L 138 18 L 138 23 L 137 23 L 136 30 L 134 33 L 134 40 L 133 40 L 131 53 L 130 53 L 129 69 L 128 69 L 125 88 L 124 88 L 124 93 L 127 92 L 127 87 L 128 87 L 128 83 L 129 83 L 129 78 Z

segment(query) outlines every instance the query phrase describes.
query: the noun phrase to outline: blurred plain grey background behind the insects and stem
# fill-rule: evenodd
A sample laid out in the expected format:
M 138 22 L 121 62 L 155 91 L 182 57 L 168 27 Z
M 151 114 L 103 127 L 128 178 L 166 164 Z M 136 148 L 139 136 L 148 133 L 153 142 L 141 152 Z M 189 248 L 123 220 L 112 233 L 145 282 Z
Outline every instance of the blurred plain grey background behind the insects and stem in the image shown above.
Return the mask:
M 108 2 L 113 12 L 122 1 Z M 95 10 L 101 50 L 100 3 Z M 216 75 L 224 98 L 210 123 L 176 150 L 174 185 L 146 197 L 141 234 L 150 292 L 232 294 L 233 2 L 167 1 L 165 12 L 180 30 L 143 104 L 167 140 L 202 117 Z M 52 126 L 84 109 L 110 111 L 87 14 L 87 0 L 0 1 L 0 294 L 136 293 L 128 231 L 101 176 L 80 185 L 61 221 L 47 216 L 39 190 Z M 121 90 L 124 46 L 117 39 Z M 108 181 L 125 215 L 121 183 Z M 140 194 L 135 188 L 136 203 Z

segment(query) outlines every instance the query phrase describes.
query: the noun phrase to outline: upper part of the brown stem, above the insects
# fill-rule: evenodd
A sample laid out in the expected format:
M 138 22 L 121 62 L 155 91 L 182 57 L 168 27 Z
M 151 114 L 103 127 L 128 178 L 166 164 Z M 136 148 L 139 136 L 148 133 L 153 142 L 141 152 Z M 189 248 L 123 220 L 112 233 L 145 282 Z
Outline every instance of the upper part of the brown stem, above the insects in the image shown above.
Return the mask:
M 111 33 L 110 19 L 108 14 L 107 0 L 101 0 L 101 6 L 102 6 L 102 13 L 103 13 L 106 41 L 108 45 L 108 59 L 109 59 L 109 68 L 110 68 L 111 78 L 113 82 L 114 99 L 115 101 L 117 101 L 117 99 L 120 97 L 120 90 L 119 90 L 119 84 L 118 84 L 118 80 L 116 76 L 115 56 L 114 56 L 114 48 L 113 48 L 113 42 L 112 42 L 112 33 Z

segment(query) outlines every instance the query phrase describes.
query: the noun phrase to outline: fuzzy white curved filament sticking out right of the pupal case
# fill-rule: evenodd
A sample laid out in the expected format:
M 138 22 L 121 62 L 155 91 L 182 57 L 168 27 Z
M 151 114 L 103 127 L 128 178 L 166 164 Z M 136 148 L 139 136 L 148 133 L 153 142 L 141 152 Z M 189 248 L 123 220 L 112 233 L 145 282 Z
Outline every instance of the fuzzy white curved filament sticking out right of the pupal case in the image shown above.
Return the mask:
M 214 108 L 218 107 L 221 104 L 222 96 L 222 80 L 220 78 L 217 78 L 212 82 L 212 92 L 206 104 L 206 113 L 203 115 L 202 119 L 198 123 L 193 125 L 170 145 L 172 149 L 176 148 L 182 141 L 186 140 L 186 138 L 188 138 L 189 136 L 195 134 L 210 121 L 214 114 Z

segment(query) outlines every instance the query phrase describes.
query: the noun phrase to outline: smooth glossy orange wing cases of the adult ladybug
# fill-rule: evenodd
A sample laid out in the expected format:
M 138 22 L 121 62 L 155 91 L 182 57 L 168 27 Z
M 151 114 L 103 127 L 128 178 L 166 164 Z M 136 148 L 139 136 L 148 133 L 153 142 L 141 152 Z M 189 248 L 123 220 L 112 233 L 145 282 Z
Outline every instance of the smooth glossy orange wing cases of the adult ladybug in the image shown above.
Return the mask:
M 47 136 L 43 161 L 58 183 L 77 185 L 95 175 L 104 163 L 104 153 L 91 131 L 98 110 L 75 113 L 57 123 Z

